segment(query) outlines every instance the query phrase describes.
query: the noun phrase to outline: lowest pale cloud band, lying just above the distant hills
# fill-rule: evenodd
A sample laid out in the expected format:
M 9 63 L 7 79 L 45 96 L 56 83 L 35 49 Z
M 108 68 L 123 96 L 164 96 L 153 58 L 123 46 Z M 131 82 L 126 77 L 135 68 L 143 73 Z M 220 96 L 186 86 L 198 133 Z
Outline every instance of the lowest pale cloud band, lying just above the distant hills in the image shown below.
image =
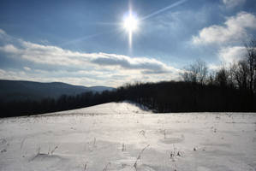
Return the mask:
M 47 71 L 47 70 L 34 70 L 33 72 L 17 71 L 17 70 L 3 70 L 0 69 L 0 79 L 3 80 L 31 80 L 39 82 L 65 82 L 73 85 L 109 85 L 117 87 L 125 83 L 140 82 L 154 82 L 170 79 L 178 79 L 171 77 L 170 74 L 143 75 L 136 70 L 125 71 L 120 70 L 118 73 L 106 74 L 98 71 Z

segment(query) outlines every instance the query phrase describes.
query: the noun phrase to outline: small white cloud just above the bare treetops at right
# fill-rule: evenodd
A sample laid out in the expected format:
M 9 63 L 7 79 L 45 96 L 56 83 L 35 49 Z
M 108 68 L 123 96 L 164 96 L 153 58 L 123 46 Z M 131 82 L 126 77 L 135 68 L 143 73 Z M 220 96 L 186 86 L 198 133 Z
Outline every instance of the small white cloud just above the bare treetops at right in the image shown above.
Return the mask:
M 243 46 L 225 47 L 219 50 L 218 56 L 224 63 L 238 62 L 245 57 L 247 49 Z

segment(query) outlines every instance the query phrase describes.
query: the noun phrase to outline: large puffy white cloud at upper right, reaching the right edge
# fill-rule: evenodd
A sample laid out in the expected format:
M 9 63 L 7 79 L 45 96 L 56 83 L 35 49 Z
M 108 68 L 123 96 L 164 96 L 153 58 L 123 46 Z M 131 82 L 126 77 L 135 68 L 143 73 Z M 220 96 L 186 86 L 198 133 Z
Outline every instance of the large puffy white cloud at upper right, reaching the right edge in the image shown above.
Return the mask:
M 240 12 L 227 18 L 224 26 L 213 25 L 199 31 L 193 36 L 193 44 L 223 44 L 247 38 L 247 29 L 256 30 L 256 16 Z

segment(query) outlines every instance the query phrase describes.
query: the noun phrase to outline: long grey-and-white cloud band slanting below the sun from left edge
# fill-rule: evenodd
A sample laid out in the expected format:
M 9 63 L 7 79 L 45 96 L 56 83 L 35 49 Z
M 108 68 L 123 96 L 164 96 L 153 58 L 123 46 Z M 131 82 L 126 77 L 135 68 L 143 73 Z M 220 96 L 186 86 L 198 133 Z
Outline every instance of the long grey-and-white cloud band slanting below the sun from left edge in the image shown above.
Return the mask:
M 80 53 L 71 50 L 63 50 L 57 46 L 33 44 L 23 41 L 21 48 L 13 44 L 0 46 L 0 50 L 12 56 L 35 63 L 57 65 L 57 66 L 95 66 L 106 68 L 139 69 L 150 73 L 170 73 L 176 71 L 175 68 L 167 66 L 156 59 L 146 57 L 130 57 L 106 53 Z

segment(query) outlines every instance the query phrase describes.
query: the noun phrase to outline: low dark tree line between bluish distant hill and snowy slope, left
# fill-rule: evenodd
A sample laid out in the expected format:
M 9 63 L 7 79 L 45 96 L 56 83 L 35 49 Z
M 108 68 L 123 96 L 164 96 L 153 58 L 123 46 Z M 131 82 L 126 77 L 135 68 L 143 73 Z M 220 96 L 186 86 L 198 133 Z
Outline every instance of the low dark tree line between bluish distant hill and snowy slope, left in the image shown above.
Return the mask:
M 111 91 L 103 91 L 101 93 L 88 91 L 76 96 L 62 95 L 57 99 L 48 97 L 39 101 L 0 102 L 0 117 L 38 115 L 68 109 L 80 109 L 100 103 L 109 103 L 113 100 Z

